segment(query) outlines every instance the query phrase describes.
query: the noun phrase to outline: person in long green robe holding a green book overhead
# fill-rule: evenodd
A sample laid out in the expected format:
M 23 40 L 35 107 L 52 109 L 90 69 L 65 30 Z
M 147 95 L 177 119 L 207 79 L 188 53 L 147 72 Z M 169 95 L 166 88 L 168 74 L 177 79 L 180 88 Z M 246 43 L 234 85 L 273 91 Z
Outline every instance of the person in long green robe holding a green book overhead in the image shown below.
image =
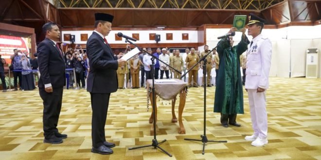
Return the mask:
M 228 33 L 237 31 L 232 27 Z M 217 45 L 219 69 L 215 89 L 214 112 L 221 113 L 221 124 L 240 127 L 236 123 L 236 114 L 244 114 L 243 86 L 240 72 L 240 55 L 248 49 L 250 44 L 245 35 L 246 29 L 241 29 L 242 38 L 238 45 L 233 47 L 232 36 L 222 38 Z

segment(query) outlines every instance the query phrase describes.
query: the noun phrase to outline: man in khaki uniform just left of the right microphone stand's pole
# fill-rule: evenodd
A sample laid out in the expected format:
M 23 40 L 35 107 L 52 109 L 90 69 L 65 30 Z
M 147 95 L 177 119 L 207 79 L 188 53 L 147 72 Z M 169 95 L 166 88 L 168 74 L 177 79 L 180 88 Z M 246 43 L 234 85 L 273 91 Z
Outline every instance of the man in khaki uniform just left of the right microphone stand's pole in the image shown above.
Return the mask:
M 186 69 L 190 69 L 193 65 L 195 65 L 199 61 L 199 57 L 195 54 L 195 48 L 191 48 L 191 53 L 186 57 Z M 198 65 L 196 65 L 190 72 L 188 72 L 188 86 L 192 87 L 192 76 L 193 76 L 193 83 L 194 87 L 197 86 L 197 72 L 198 72 Z

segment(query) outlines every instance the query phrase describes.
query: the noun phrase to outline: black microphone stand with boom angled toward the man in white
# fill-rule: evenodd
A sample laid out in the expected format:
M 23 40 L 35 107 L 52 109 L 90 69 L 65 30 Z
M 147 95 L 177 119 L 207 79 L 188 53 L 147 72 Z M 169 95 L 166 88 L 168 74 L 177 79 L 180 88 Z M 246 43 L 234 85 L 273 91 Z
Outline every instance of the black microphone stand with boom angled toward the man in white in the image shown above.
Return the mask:
M 217 45 L 218 46 L 218 45 Z M 215 48 L 217 48 L 217 46 Z M 190 138 L 184 138 L 184 140 L 187 140 L 187 141 L 200 141 L 203 143 L 203 151 L 202 151 L 202 154 L 204 154 L 204 149 L 205 149 L 205 144 L 208 143 L 208 142 L 220 142 L 220 143 L 227 143 L 227 141 L 213 141 L 213 140 L 208 140 L 207 137 L 206 137 L 206 57 L 211 54 L 211 52 L 213 52 L 213 50 L 215 49 L 213 48 L 209 53 L 207 53 L 203 58 L 201 58 L 195 65 L 193 65 L 184 75 L 182 75 L 180 77 L 183 78 L 188 72 L 190 72 L 197 64 L 199 64 L 200 62 L 203 61 L 203 81 L 204 81 L 204 134 L 201 135 L 200 137 L 202 138 L 201 140 L 196 140 L 196 139 L 190 139 Z M 217 76 L 217 75 L 216 75 Z

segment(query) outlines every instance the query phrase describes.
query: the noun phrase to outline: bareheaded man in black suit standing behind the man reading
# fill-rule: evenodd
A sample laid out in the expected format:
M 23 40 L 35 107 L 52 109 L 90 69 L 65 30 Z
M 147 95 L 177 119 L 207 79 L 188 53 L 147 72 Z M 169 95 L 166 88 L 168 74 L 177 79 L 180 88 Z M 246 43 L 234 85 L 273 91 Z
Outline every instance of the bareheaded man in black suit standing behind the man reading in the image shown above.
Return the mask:
M 66 134 L 57 129 L 62 103 L 63 86 L 65 85 L 65 61 L 59 45 L 60 31 L 55 23 L 43 25 L 42 31 L 46 38 L 38 45 L 38 81 L 39 95 L 43 100 L 43 131 L 44 143 L 60 144 Z

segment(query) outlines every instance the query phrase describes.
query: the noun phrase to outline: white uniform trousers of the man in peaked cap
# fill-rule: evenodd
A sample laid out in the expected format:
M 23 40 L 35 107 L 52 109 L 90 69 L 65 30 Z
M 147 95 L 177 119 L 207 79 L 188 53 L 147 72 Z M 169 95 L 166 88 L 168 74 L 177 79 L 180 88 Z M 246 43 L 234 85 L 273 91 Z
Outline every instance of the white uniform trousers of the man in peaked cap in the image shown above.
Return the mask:
M 267 105 L 265 92 L 256 93 L 256 89 L 248 89 L 249 105 L 254 135 L 267 138 Z

